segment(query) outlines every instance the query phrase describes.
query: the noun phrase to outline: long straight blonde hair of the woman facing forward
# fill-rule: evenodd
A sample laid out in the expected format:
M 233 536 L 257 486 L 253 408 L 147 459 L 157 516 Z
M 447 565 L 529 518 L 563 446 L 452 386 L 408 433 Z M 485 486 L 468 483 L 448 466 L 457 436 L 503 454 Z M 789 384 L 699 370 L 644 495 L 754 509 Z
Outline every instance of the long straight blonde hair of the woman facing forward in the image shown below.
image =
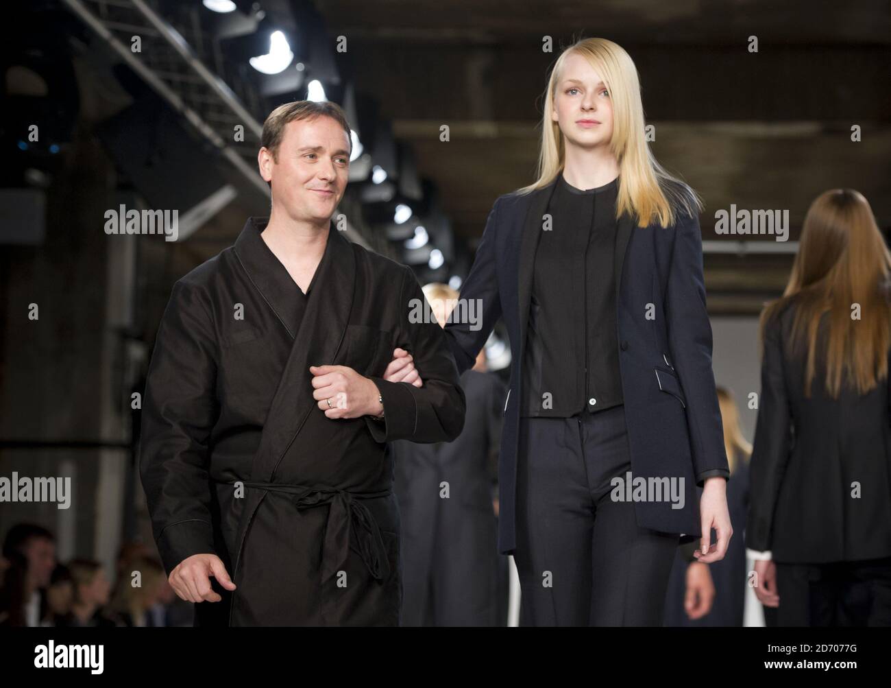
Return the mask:
M 538 155 L 538 178 L 519 193 L 541 189 L 560 174 L 566 163 L 566 144 L 560 124 L 551 119 L 554 95 L 569 55 L 583 56 L 603 78 L 613 104 L 613 134 L 609 142 L 619 168 L 616 217 L 627 212 L 645 227 L 658 221 L 673 225 L 680 209 L 696 217 L 702 209 L 699 196 L 687 184 L 668 174 L 650 152 L 644 133 L 641 82 L 630 55 L 606 38 L 584 38 L 570 45 L 554 62 L 544 96 L 542 145 Z

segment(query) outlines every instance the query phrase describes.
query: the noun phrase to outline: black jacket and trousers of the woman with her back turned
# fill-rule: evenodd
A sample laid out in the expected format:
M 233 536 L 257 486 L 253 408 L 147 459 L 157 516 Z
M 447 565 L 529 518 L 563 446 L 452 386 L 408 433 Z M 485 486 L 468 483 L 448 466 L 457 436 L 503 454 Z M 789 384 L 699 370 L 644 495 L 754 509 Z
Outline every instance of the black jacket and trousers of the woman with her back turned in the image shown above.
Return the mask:
M 891 625 L 891 413 L 888 381 L 832 399 L 817 355 L 805 398 L 805 351 L 790 351 L 794 302 L 767 324 L 749 466 L 746 545 L 777 563 L 768 625 Z M 818 341 L 825 341 L 823 318 Z M 822 347 L 818 347 L 820 350 Z M 855 490 L 859 489 L 859 496 Z

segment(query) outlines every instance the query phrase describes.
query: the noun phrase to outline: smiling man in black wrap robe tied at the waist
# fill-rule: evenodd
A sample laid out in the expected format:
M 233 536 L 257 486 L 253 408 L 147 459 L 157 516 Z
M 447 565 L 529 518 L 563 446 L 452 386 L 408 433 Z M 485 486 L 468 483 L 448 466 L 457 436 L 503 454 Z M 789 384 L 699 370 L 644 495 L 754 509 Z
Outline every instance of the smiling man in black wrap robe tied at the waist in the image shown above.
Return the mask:
M 271 216 L 180 279 L 159 327 L 140 457 L 154 535 L 197 625 L 395 626 L 386 443 L 451 441 L 464 394 L 442 330 L 410 318 L 411 269 L 331 222 L 342 111 L 282 105 L 262 143 Z M 416 352 L 422 386 L 384 378 L 395 348 Z

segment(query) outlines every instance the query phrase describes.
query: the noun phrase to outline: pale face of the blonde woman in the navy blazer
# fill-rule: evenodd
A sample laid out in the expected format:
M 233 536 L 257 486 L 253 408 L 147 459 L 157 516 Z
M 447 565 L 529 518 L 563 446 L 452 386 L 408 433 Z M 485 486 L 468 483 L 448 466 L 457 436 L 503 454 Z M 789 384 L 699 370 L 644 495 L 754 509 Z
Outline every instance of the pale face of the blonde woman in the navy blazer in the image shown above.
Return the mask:
M 601 75 L 579 54 L 563 62 L 553 98 L 552 121 L 560 126 L 567 148 L 592 149 L 609 145 L 613 111 Z

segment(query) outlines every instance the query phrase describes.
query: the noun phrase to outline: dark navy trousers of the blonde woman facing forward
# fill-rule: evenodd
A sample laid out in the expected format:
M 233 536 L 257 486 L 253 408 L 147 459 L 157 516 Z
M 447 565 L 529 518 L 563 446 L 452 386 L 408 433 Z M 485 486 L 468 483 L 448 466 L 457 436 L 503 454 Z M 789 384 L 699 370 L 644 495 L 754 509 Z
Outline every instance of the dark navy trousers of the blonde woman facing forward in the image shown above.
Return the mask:
M 661 626 L 679 535 L 637 525 L 610 498 L 631 471 L 625 406 L 520 418 L 521 626 Z

